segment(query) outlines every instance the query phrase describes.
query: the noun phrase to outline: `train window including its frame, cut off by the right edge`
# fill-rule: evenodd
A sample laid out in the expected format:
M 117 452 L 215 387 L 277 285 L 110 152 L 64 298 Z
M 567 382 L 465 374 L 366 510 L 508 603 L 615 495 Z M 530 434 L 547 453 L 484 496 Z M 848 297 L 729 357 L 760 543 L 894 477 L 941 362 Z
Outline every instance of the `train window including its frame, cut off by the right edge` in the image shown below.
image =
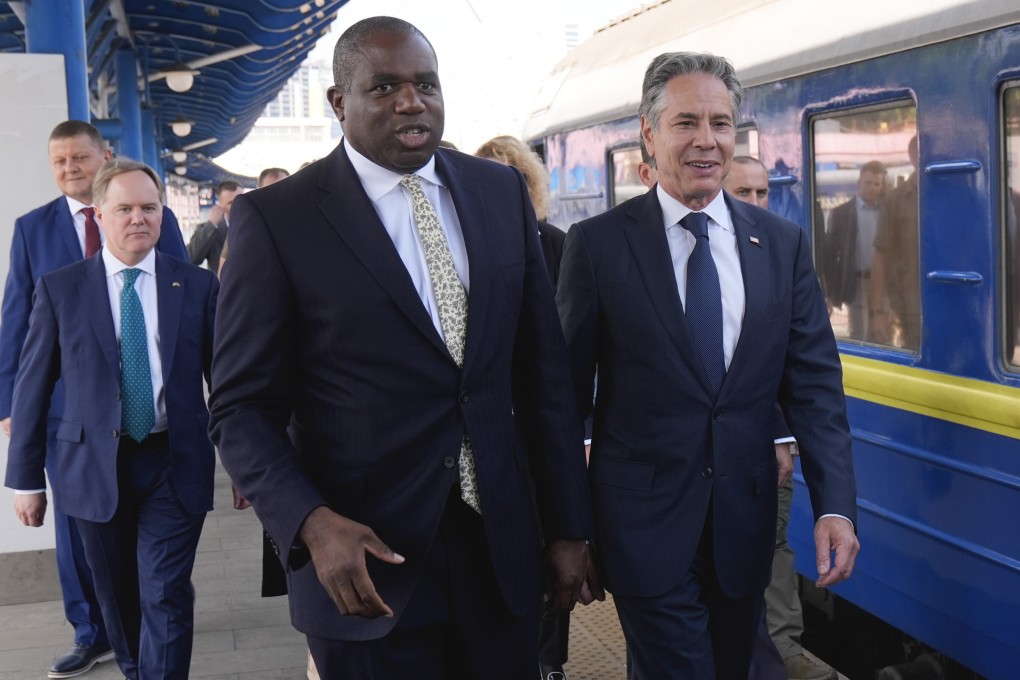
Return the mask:
M 1001 356 L 1004 369 L 1017 373 L 1020 372 L 1020 80 L 1006 81 L 1000 86 L 999 112 Z

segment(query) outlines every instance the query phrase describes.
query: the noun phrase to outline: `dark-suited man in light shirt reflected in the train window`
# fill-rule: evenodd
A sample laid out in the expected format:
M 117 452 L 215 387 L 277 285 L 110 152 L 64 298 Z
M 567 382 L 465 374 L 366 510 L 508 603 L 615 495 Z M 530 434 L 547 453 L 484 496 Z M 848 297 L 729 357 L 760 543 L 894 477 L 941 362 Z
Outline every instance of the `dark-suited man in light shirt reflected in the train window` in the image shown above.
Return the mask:
M 857 196 L 832 209 L 825 230 L 825 266 L 820 268 L 825 295 L 833 308 L 846 309 L 848 336 L 854 339 L 868 337 L 871 260 L 885 175 L 881 161 L 862 165 Z

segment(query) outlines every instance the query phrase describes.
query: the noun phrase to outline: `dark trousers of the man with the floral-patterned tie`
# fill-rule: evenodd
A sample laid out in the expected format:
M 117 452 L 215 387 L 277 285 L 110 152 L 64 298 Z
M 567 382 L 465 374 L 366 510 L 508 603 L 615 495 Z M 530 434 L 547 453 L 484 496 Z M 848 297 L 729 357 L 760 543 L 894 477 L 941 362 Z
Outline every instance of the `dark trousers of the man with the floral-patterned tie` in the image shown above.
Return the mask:
M 319 675 L 358 680 L 537 678 L 542 593 L 534 593 L 531 612 L 511 615 L 486 543 L 481 517 L 461 501 L 454 485 L 421 579 L 394 630 L 359 642 L 309 635 Z

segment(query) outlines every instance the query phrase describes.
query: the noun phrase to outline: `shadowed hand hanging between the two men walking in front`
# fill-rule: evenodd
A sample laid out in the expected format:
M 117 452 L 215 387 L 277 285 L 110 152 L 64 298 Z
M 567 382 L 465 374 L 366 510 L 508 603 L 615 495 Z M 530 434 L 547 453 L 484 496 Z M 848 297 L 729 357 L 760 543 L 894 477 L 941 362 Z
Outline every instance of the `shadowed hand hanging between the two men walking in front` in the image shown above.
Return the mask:
M 606 598 L 592 546 L 583 539 L 554 540 L 546 548 L 546 597 L 549 616 L 571 611 L 578 600 Z

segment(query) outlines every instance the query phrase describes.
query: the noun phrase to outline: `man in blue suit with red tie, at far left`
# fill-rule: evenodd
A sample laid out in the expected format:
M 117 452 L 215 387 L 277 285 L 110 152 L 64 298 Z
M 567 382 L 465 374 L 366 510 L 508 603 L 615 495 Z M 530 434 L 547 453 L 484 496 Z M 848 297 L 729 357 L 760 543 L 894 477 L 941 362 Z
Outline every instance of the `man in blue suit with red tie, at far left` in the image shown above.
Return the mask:
M 29 330 L 36 280 L 92 255 L 102 244 L 102 232 L 90 216 L 92 180 L 110 158 L 102 136 L 87 122 L 67 120 L 50 134 L 48 153 L 53 179 L 61 196 L 22 215 L 14 223 L 10 269 L 0 313 L 0 426 L 8 436 L 14 376 Z M 187 257 L 177 220 L 168 208 L 164 208 L 157 248 L 174 257 Z M 51 444 L 55 423 L 60 418 L 62 395 L 58 384 L 50 407 Z M 52 475 L 53 471 L 50 473 Z M 54 661 L 49 677 L 69 678 L 113 657 L 78 530 L 60 512 L 54 513 L 53 521 L 64 614 L 74 627 L 74 646 Z

